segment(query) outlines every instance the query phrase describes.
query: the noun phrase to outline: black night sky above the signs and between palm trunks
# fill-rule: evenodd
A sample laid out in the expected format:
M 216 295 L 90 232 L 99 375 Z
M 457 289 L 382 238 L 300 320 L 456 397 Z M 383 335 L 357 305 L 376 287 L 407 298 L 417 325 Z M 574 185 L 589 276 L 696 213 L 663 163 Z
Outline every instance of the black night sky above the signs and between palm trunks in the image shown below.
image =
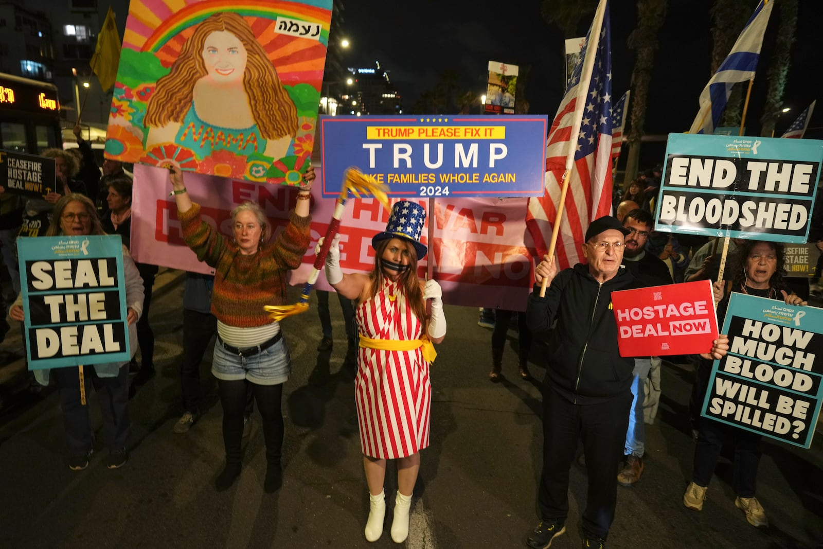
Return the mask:
M 434 88 L 440 72 L 450 68 L 458 72 L 462 90 L 477 91 L 477 95 L 485 93 L 486 67 L 494 60 L 532 65 L 526 89 L 531 104 L 529 113 L 554 117 L 565 87 L 564 37 L 556 26 L 542 19 L 538 0 L 343 2 L 342 26 L 352 42 L 346 64 L 374 67 L 374 61 L 379 61 L 381 67 L 390 71 L 389 77 L 402 93 L 407 109 L 414 105 L 421 91 Z M 713 2 L 669 0 L 668 4 L 649 91 L 647 134 L 686 131 L 697 114 L 700 91 L 711 77 L 709 8 Z M 823 71 L 821 16 L 823 2 L 800 0 L 797 41 L 783 97 L 792 111 L 779 119 L 777 136 L 812 100 L 823 99 L 818 85 Z M 635 28 L 635 18 L 635 2 L 611 2 L 612 95 L 615 97 L 629 88 L 635 52 L 627 47 L 626 38 Z M 581 21 L 579 35 L 585 35 L 590 24 L 591 16 Z M 779 6 L 775 5 L 752 89 L 746 133 L 760 133 L 766 71 L 778 25 Z M 820 128 L 812 130 L 814 127 Z M 816 105 L 809 128 L 807 137 L 823 138 L 823 101 Z M 659 152 L 658 147 L 644 147 L 641 164 L 652 161 L 646 148 L 652 149 L 649 154 L 659 155 L 662 160 L 662 146 Z M 623 160 L 621 158 L 621 164 Z

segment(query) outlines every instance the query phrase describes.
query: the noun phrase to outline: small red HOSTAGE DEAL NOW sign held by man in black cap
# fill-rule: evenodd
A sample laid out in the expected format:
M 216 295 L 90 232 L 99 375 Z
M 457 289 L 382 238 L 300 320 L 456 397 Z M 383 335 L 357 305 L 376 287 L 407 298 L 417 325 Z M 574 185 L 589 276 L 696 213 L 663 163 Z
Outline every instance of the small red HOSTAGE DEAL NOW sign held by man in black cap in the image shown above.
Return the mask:
M 709 352 L 718 337 L 708 280 L 611 292 L 621 356 Z

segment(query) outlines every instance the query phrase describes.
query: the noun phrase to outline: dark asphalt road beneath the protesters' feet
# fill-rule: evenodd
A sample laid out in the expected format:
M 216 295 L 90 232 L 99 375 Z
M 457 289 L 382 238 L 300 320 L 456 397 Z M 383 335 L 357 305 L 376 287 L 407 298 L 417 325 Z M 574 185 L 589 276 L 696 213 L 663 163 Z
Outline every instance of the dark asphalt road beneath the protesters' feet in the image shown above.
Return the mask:
M 314 299 L 307 313 L 283 323 L 294 362 L 283 401 L 283 487 L 263 493 L 265 449 L 255 414 L 239 481 L 216 493 L 213 482 L 223 463 L 221 407 L 209 361 L 202 365 L 205 415 L 186 435 L 172 431 L 182 412 L 182 288 L 178 272 L 163 272 L 158 280 L 151 323 L 159 372 L 131 402 L 131 455 L 123 468 L 105 468 L 95 397 L 98 451 L 81 472 L 67 468 L 53 388 L 24 388 L 8 397 L 0 414 L 0 547 L 397 547 L 388 535 L 396 491 L 391 465 L 384 535 L 374 543 L 363 537 L 368 493 L 336 300 L 337 340 L 330 353 L 315 351 L 321 333 Z M 292 301 L 297 295 L 292 288 Z M 537 522 L 540 391 L 518 379 L 514 348 L 504 356 L 506 379 L 491 384 L 491 331 L 477 326 L 477 309 L 447 305 L 445 314 L 449 333 L 432 368 L 432 444 L 421 454 L 405 546 L 524 547 Z M 13 328 L 0 351 L 19 351 L 19 329 Z M 510 347 L 516 346 L 516 332 L 509 336 Z M 542 356 L 545 348 L 532 348 L 538 378 Z M 14 377 L 9 368 L 14 366 L 0 369 L 0 379 Z M 663 402 L 656 423 L 647 426 L 646 470 L 637 485 L 619 488 L 607 547 L 823 547 L 820 438 L 811 450 L 765 442 L 758 497 L 770 529 L 752 528 L 734 507 L 725 458 L 704 510 L 683 507 L 694 449 L 686 421 L 691 376 L 689 368 L 664 366 Z M 573 465 L 570 478 L 568 534 L 552 545 L 561 549 L 580 547 L 585 472 Z

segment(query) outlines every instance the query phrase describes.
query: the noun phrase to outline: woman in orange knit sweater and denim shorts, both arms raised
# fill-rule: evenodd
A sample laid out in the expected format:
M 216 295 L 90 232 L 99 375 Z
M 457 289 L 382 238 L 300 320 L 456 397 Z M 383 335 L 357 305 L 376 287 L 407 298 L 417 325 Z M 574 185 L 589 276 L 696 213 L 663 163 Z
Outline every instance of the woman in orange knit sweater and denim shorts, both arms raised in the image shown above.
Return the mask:
M 217 342 L 212 374 L 220 390 L 226 446 L 226 467 L 216 478 L 217 491 L 228 489 L 240 473 L 246 383 L 252 384 L 263 416 L 267 459 L 263 488 L 271 493 L 282 484 L 281 398 L 291 373 L 291 356 L 281 337 L 280 323 L 269 318 L 263 305 L 286 302 L 286 272 L 298 268 L 309 249 L 309 189 L 313 181 L 314 168 L 309 168 L 289 224 L 277 239 L 267 242 L 271 227 L 258 203 L 244 202 L 231 212 L 234 240 L 230 241 L 202 221 L 200 206 L 188 197 L 182 172 L 176 168 L 171 172 L 186 243 L 200 261 L 215 269 L 212 314 L 217 318 Z

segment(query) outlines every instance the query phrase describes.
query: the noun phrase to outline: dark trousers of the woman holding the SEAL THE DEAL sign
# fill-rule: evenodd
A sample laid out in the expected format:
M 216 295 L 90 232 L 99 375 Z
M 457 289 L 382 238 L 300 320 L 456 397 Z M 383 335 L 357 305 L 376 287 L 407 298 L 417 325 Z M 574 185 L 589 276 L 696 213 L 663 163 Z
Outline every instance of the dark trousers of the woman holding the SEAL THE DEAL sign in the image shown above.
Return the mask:
M 54 368 L 51 375 L 54 376 L 59 388 L 68 451 L 72 455 L 86 454 L 94 446 L 89 416 L 92 386 L 100 402 L 105 445 L 109 449 L 125 448 L 131 430 L 131 422 L 128 419 L 128 366 L 121 366 L 117 377 L 114 378 L 101 378 L 96 374 L 94 366 L 84 366 L 85 406 L 80 400 L 80 375 L 76 367 Z

